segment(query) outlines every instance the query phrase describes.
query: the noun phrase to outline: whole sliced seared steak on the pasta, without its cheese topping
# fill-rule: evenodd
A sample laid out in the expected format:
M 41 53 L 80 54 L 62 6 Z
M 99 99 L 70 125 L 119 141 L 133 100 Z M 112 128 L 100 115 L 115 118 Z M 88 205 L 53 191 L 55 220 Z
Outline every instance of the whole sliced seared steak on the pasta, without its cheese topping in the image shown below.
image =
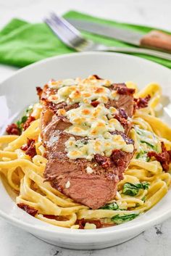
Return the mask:
M 121 86 L 125 88 L 124 86 Z M 114 86 L 111 86 L 111 90 Z M 47 90 L 47 88 L 46 88 Z M 49 92 L 48 92 L 49 93 Z M 53 91 L 50 91 L 53 94 Z M 45 93 L 42 94 L 45 96 Z M 87 205 L 92 209 L 98 209 L 113 199 L 117 191 L 117 183 L 123 178 L 123 173 L 130 163 L 133 153 L 115 149 L 110 157 L 95 154 L 92 160 L 78 158 L 75 160 L 67 157 L 65 143 L 74 137 L 75 140 L 88 140 L 87 137 L 74 136 L 65 129 L 72 123 L 64 116 L 59 116 L 60 108 L 70 110 L 79 107 L 79 104 L 67 105 L 65 102 L 49 104 L 43 99 L 43 112 L 41 115 L 41 131 L 43 144 L 46 146 L 48 162 L 44 171 L 44 178 L 50 181 L 51 186 L 62 191 L 75 202 Z M 97 107 L 94 104 L 93 107 Z M 130 122 L 127 115 L 133 113 L 133 95 L 120 94 L 116 101 L 109 101 L 106 107 L 122 107 L 117 120 L 124 123 L 125 133 L 130 131 Z M 60 106 L 60 107 L 59 107 Z M 125 111 L 124 111 L 125 110 Z M 75 110 L 76 111 L 76 110 Z M 121 122 L 122 120 L 122 122 Z M 113 131 L 112 134 L 120 134 L 126 144 L 133 144 L 133 140 L 125 133 Z

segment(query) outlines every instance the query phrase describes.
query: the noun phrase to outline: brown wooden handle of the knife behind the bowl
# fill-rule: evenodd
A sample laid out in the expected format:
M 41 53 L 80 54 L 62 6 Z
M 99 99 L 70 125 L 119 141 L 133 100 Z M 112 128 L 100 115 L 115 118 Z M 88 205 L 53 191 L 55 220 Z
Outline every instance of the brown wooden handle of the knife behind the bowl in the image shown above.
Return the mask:
M 171 52 L 171 35 L 158 30 L 151 30 L 140 41 L 141 46 Z

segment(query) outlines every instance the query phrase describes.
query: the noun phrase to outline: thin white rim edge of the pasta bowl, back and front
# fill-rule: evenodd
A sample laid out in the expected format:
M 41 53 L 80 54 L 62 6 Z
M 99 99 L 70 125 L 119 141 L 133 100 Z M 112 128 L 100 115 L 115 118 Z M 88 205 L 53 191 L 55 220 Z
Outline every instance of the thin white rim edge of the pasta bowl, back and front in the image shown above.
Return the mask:
M 109 56 L 109 55 L 114 55 L 114 56 L 122 56 L 122 57 L 125 57 L 125 58 L 128 58 L 128 59 L 135 59 L 135 60 L 139 60 L 140 62 L 144 62 L 144 63 L 147 63 L 147 64 L 151 64 L 154 68 L 155 67 L 159 67 L 160 69 L 162 70 L 167 70 L 170 72 L 170 69 L 168 67 L 164 67 L 160 64 L 157 64 L 155 62 L 151 62 L 150 60 L 148 59 L 142 59 L 140 57 L 137 57 L 137 56 L 134 56 L 134 55 L 129 55 L 129 54 L 120 54 L 120 53 L 112 53 L 112 52 L 97 52 L 97 51 L 88 51 L 88 52 L 82 52 L 82 53 L 70 53 L 70 54 L 62 54 L 62 55 L 58 55 L 58 56 L 54 56 L 54 57 L 49 57 L 49 58 L 46 58 L 46 59 L 42 59 L 38 62 L 35 62 L 33 64 L 30 64 L 26 67 L 22 67 L 20 70 L 17 70 L 16 72 L 14 72 L 12 75 L 9 75 L 8 78 L 4 79 L 1 81 L 0 83 L 0 86 L 3 85 L 3 83 L 5 83 L 7 80 L 13 78 L 14 76 L 22 73 L 24 70 L 30 70 L 38 65 L 41 65 L 43 63 L 46 63 L 46 62 L 51 62 L 51 60 L 54 60 L 54 59 L 64 59 L 64 58 L 68 58 L 68 57 L 77 57 L 77 56 L 85 56 L 85 55 L 102 55 L 102 56 Z M 1 183 L 2 184 L 2 183 Z M 3 186 L 3 184 L 2 184 Z M 155 207 L 155 206 L 154 206 Z M 153 207 L 153 208 L 154 208 Z M 24 212 L 24 214 L 27 214 L 27 212 Z M 146 212 L 144 213 L 146 214 Z M 144 231 L 146 229 L 146 227 L 150 227 L 150 226 L 153 226 L 154 224 L 157 224 L 163 220 L 166 220 L 167 218 L 169 218 L 171 216 L 171 208 L 170 210 L 167 210 L 165 212 L 163 212 L 162 214 L 160 215 L 156 215 L 155 218 L 152 218 L 149 220 L 146 219 L 146 220 L 142 220 L 141 221 L 141 216 L 139 216 L 138 218 L 136 218 L 135 220 L 140 220 L 140 221 L 136 221 L 135 223 L 135 220 L 131 220 L 131 223 L 133 224 L 132 226 L 127 226 L 127 224 L 129 223 L 123 223 L 122 225 L 119 225 L 119 226 L 113 226 L 113 227 L 107 227 L 107 228 L 101 228 L 101 229 L 93 229 L 93 230 L 76 230 L 76 229 L 71 229 L 71 228 L 63 228 L 63 227 L 59 227 L 59 226 L 56 226 L 57 229 L 50 229 L 51 227 L 51 224 L 48 224 L 49 225 L 49 228 L 47 226 L 38 226 L 38 225 L 34 225 L 32 223 L 27 223 L 26 221 L 23 221 L 23 220 L 20 220 L 20 219 L 17 219 L 16 217 L 13 217 L 12 215 L 7 215 L 3 210 L 0 209 L 0 216 L 2 218 L 4 218 L 5 220 L 7 220 L 8 222 L 14 224 L 14 226 L 20 226 L 20 228 L 22 229 L 25 229 L 25 230 L 29 230 L 29 231 L 46 231 L 46 233 L 48 234 L 62 234 L 62 235 L 70 235 L 72 234 L 73 236 L 75 236 L 75 238 L 77 236 L 90 236 L 90 235 L 96 235 L 96 236 L 104 236 L 105 235 L 112 235 L 112 234 L 120 234 L 122 232 L 126 232 L 126 231 Z M 32 216 L 30 216 L 30 218 L 33 218 Z M 36 219 L 38 220 L 38 219 Z M 41 221 L 42 220 L 38 220 L 38 221 Z

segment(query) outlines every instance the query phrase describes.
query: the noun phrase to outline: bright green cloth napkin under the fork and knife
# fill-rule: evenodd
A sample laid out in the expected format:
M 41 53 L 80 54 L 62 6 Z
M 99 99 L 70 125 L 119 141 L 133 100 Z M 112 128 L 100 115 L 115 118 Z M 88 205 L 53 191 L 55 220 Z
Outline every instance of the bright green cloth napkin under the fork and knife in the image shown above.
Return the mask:
M 151 29 L 154 29 L 142 25 L 130 25 L 112 20 L 103 20 L 75 11 L 67 12 L 64 17 L 99 22 L 141 33 L 148 33 Z M 104 36 L 97 36 L 91 33 L 83 33 L 83 35 L 86 38 L 106 44 L 107 46 L 130 46 L 129 44 Z M 47 57 L 71 52 L 74 52 L 74 50 L 65 46 L 44 23 L 32 24 L 24 20 L 13 19 L 0 31 L 0 62 L 3 64 L 24 67 Z M 171 68 L 171 62 L 169 60 L 159 59 L 145 54 L 133 55 L 150 59 Z

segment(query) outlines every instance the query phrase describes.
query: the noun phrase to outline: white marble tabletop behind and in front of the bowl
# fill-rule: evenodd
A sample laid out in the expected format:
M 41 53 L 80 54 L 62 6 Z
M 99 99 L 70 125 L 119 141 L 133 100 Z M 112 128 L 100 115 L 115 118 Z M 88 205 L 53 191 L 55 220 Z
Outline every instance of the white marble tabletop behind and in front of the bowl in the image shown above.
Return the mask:
M 171 30 L 171 0 L 0 0 L 0 28 L 12 17 L 40 22 L 51 10 L 62 14 L 69 9 Z M 0 81 L 15 70 L 14 67 L 0 65 Z M 171 219 L 116 247 L 76 251 L 46 244 L 0 218 L 1 256 L 170 256 L 170 239 Z

